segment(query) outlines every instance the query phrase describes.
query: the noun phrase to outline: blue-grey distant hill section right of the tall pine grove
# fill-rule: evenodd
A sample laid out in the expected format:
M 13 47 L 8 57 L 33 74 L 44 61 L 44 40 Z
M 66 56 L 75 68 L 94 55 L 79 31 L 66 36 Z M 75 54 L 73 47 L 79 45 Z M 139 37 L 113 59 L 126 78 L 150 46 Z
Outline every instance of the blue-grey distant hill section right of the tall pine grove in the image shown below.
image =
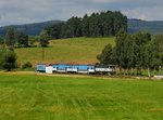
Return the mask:
M 146 30 L 151 34 L 163 34 L 163 21 L 128 19 L 128 32 L 134 34 L 139 30 Z

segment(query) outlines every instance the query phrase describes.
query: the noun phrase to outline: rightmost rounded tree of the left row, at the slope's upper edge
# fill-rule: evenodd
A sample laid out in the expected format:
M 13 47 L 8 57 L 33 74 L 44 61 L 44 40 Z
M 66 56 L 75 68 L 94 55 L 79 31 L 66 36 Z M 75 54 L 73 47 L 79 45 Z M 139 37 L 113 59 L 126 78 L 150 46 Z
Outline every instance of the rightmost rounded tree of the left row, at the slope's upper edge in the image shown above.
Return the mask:
M 48 46 L 50 37 L 49 37 L 47 30 L 42 30 L 42 31 L 40 32 L 39 39 L 40 39 L 40 45 L 41 45 L 41 46 L 43 46 L 43 48 L 45 48 L 45 46 Z

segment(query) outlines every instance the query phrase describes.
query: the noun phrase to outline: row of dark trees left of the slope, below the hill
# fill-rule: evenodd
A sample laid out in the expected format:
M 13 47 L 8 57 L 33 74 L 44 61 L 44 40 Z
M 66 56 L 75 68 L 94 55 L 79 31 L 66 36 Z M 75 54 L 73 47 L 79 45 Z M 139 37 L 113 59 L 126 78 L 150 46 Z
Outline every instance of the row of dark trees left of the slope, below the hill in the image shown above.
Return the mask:
M 35 46 L 35 42 L 39 42 L 40 46 L 47 46 L 49 44 L 49 40 L 50 37 L 46 30 L 41 30 L 39 36 L 28 36 L 13 27 L 7 30 L 4 37 L 0 36 L 0 44 L 4 44 L 10 48 Z

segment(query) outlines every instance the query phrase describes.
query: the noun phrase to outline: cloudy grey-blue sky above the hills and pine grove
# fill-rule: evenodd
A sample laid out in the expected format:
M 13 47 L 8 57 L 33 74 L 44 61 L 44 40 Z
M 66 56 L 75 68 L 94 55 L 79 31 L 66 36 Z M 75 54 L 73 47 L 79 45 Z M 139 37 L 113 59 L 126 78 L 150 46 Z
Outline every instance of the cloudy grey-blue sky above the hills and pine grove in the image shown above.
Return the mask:
M 0 26 L 66 21 L 108 10 L 128 18 L 163 21 L 163 0 L 0 0 Z

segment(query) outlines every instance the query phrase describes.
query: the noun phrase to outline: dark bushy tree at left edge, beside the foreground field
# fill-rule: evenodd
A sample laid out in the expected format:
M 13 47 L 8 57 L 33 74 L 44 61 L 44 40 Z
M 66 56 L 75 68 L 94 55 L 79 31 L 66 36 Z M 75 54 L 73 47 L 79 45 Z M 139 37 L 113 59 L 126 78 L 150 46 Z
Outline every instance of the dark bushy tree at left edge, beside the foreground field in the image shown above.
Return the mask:
M 1 65 L 2 68 L 11 71 L 11 69 L 16 68 L 16 54 L 12 49 L 8 49 L 3 54 L 2 54 L 2 61 Z

